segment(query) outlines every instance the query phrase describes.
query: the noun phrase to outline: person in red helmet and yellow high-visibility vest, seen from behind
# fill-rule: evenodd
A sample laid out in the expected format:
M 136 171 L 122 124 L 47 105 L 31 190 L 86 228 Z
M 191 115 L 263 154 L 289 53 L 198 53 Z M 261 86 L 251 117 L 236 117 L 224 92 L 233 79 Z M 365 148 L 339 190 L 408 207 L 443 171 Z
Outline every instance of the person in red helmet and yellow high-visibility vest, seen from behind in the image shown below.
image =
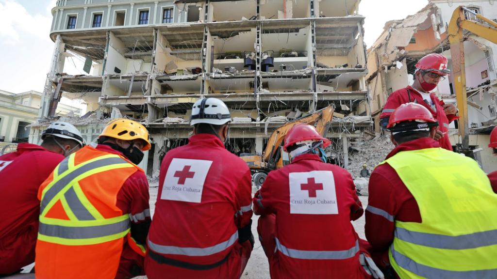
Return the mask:
M 420 104 L 390 116 L 396 146 L 369 179 L 366 238 L 387 278 L 495 278 L 497 195 L 478 163 L 440 147 Z

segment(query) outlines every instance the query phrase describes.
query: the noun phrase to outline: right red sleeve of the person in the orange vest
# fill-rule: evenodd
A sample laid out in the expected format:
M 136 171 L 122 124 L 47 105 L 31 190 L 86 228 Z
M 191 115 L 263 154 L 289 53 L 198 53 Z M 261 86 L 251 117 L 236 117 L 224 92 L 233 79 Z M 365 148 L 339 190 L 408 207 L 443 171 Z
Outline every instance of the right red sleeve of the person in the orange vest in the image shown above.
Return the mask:
M 141 171 L 132 174 L 117 194 L 116 205 L 130 214 L 133 223 L 150 220 L 149 182 Z

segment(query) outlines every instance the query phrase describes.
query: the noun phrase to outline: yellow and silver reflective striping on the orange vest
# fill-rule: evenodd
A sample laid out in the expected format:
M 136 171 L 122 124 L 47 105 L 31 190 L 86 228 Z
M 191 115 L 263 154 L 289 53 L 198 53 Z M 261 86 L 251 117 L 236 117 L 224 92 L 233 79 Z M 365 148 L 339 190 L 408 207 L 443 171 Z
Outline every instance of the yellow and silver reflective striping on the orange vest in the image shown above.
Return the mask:
M 134 167 L 115 154 L 103 155 L 75 166 L 73 153 L 54 170 L 43 190 L 38 238 L 63 245 L 89 245 L 122 238 L 130 230 L 129 215 L 104 218 L 84 196 L 79 181 L 100 172 Z M 69 220 L 46 217 L 60 201 Z

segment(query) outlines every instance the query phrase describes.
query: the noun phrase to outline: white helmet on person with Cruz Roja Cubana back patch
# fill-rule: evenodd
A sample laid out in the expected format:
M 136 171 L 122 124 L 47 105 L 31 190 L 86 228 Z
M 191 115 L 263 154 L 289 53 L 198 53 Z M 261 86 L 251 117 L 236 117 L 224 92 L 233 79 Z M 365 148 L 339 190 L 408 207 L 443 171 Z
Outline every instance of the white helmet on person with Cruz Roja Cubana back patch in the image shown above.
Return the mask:
M 198 123 L 223 125 L 231 121 L 230 110 L 216 98 L 203 98 L 193 104 L 190 126 Z

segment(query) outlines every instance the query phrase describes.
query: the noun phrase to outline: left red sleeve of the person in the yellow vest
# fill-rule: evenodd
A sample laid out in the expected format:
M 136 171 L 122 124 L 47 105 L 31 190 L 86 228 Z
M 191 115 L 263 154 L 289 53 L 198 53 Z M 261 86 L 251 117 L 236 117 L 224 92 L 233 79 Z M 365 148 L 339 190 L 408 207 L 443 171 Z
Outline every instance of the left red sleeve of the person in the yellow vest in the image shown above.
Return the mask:
M 374 250 L 386 250 L 394 240 L 395 203 L 392 198 L 395 193 L 392 188 L 388 179 L 373 171 L 369 179 L 365 233 Z

